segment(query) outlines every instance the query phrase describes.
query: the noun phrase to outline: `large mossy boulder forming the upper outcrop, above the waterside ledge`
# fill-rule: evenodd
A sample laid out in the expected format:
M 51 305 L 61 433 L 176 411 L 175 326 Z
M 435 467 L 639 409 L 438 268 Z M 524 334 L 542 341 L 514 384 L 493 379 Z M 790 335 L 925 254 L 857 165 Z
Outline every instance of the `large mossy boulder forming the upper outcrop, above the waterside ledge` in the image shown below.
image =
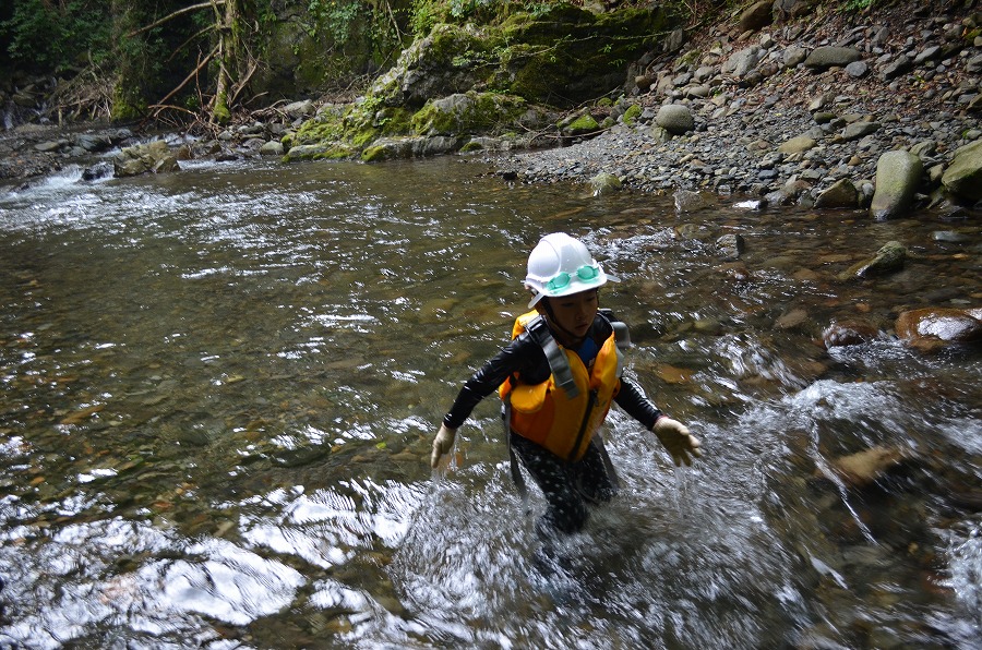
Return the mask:
M 658 45 L 657 35 L 671 26 L 661 8 L 594 14 L 561 4 L 514 13 L 495 26 L 438 24 L 369 95 L 412 109 L 471 89 L 573 106 L 623 83 L 622 62 Z

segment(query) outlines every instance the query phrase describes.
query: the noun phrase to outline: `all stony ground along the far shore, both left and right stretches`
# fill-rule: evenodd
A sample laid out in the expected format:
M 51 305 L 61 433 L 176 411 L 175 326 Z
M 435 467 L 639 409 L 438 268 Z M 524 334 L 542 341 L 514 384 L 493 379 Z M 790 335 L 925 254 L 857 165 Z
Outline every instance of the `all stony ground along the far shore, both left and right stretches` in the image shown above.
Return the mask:
M 618 100 L 571 111 L 559 131 L 475 136 L 471 148 L 484 147 L 478 155 L 510 180 L 673 193 L 680 209 L 697 206 L 704 191 L 749 195 L 761 206 L 865 207 L 877 185 L 887 184 L 877 179 L 884 154 L 903 151 L 893 170 L 901 177 L 901 208 L 934 204 L 950 215 L 978 214 L 982 17 L 975 4 L 901 1 L 855 11 L 840 3 L 757 2 L 715 25 L 676 31 L 661 52 L 631 67 Z M 181 155 L 286 153 L 290 159 L 292 134 L 319 110 L 330 107 L 303 101 L 259 120 L 249 116 Z M 180 140 L 171 137 L 171 145 Z M 29 179 L 135 142 L 124 129 L 26 124 L 0 136 L 0 179 Z M 559 142 L 571 146 L 541 146 Z M 968 170 L 951 192 L 945 174 L 966 148 Z

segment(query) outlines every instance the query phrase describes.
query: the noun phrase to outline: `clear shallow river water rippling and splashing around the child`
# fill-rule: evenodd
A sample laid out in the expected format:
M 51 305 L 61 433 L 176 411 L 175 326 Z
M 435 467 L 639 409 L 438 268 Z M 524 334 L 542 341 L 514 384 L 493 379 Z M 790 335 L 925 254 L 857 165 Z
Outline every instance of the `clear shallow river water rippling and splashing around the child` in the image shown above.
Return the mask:
M 0 191 L 0 647 L 982 643 L 982 357 L 890 332 L 982 301 L 978 218 L 679 215 L 488 172 L 185 164 Z M 496 399 L 444 474 L 428 455 L 554 230 L 623 279 L 601 299 L 627 372 L 706 456 L 675 469 L 614 410 L 622 492 L 544 576 Z M 835 279 L 890 240 L 902 272 Z M 853 317 L 882 336 L 826 351 Z M 872 485 L 830 470 L 878 447 L 903 461 Z

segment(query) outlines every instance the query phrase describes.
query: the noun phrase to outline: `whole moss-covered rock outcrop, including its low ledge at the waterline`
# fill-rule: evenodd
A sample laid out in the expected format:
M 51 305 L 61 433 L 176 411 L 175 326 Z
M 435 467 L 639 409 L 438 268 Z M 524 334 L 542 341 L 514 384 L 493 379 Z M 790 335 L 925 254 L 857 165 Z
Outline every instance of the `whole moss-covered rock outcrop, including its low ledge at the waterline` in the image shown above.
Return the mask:
M 595 15 L 560 4 L 481 27 L 436 24 L 364 97 L 302 124 L 287 157 L 327 151 L 354 151 L 363 160 L 410 157 L 472 136 L 552 129 L 555 118 L 546 106 L 578 104 L 618 87 L 627 62 L 667 27 L 660 9 Z M 599 130 L 584 115 L 564 131 Z

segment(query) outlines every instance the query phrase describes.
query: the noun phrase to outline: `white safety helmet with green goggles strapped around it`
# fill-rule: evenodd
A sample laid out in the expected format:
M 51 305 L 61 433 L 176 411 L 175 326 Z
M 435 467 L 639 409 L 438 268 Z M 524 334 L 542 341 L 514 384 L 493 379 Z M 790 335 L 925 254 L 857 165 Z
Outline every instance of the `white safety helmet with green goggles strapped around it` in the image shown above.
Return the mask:
M 596 289 L 607 280 L 620 281 L 603 273 L 582 241 L 565 232 L 553 232 L 539 240 L 528 256 L 525 286 L 536 292 L 528 306 L 535 306 L 546 296 L 579 293 Z

